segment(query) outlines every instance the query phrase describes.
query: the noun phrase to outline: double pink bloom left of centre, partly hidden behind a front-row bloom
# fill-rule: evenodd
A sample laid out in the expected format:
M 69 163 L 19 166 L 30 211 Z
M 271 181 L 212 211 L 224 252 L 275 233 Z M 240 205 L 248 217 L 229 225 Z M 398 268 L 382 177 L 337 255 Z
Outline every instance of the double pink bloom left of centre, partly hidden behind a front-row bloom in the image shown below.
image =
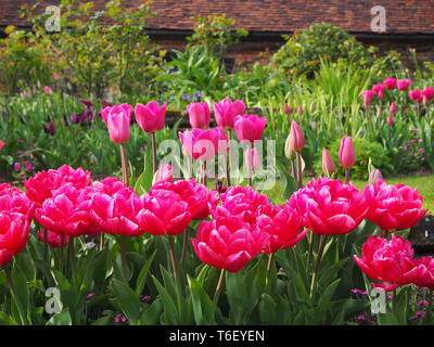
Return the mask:
M 152 185 L 150 194 L 154 191 L 167 190 L 180 196 L 189 206 L 189 213 L 192 219 L 200 220 L 209 216 L 210 208 L 218 203 L 216 192 L 209 191 L 205 185 L 197 183 L 194 179 L 184 181 L 179 180 L 174 183 L 161 181 Z

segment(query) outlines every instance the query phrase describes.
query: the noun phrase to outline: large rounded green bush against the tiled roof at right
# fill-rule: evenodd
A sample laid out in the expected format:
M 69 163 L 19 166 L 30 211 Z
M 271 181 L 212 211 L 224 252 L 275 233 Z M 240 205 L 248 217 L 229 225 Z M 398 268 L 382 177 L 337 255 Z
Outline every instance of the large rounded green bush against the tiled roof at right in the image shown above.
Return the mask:
M 354 37 L 340 27 L 321 23 L 285 36 L 285 44 L 272 56 L 271 63 L 285 75 L 314 77 L 320 60 L 344 59 L 367 65 L 371 57 Z

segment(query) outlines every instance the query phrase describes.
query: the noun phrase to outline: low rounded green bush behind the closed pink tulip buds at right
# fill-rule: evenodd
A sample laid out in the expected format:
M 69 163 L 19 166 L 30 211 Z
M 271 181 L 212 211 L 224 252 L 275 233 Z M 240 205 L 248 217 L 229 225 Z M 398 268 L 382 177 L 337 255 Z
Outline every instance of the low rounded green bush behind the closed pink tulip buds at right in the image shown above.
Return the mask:
M 387 152 L 384 151 L 383 146 L 376 142 L 369 142 L 361 138 L 353 138 L 353 144 L 356 151 L 356 163 L 352 167 L 353 179 L 368 179 L 368 166 L 371 164 L 373 167 L 379 168 L 383 175 L 387 175 L 393 170 L 391 159 L 387 156 Z M 336 176 L 344 177 L 344 168 L 340 165 L 337 153 L 341 146 L 341 139 L 336 139 L 329 145 L 328 150 L 336 164 Z M 322 175 L 322 163 L 321 155 L 317 157 L 315 164 L 315 171 L 318 175 Z

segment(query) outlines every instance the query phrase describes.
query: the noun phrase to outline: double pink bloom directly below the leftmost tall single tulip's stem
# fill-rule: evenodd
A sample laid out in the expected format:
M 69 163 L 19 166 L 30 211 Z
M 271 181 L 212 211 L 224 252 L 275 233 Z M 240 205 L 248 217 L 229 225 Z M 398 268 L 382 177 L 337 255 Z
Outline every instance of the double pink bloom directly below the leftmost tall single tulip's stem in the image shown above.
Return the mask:
M 90 211 L 101 232 L 126 236 L 140 236 L 137 215 L 142 209 L 140 197 L 127 187 L 113 195 L 95 192 L 91 196 Z

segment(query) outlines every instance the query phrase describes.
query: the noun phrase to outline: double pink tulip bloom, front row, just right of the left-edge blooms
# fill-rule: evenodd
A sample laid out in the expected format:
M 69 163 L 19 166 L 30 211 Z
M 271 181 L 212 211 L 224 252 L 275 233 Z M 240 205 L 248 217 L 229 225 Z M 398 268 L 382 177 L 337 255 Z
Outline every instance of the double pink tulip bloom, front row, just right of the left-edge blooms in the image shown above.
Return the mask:
M 68 236 L 99 232 L 90 213 L 93 190 L 77 189 L 72 183 L 54 191 L 35 211 L 36 220 L 47 230 Z

